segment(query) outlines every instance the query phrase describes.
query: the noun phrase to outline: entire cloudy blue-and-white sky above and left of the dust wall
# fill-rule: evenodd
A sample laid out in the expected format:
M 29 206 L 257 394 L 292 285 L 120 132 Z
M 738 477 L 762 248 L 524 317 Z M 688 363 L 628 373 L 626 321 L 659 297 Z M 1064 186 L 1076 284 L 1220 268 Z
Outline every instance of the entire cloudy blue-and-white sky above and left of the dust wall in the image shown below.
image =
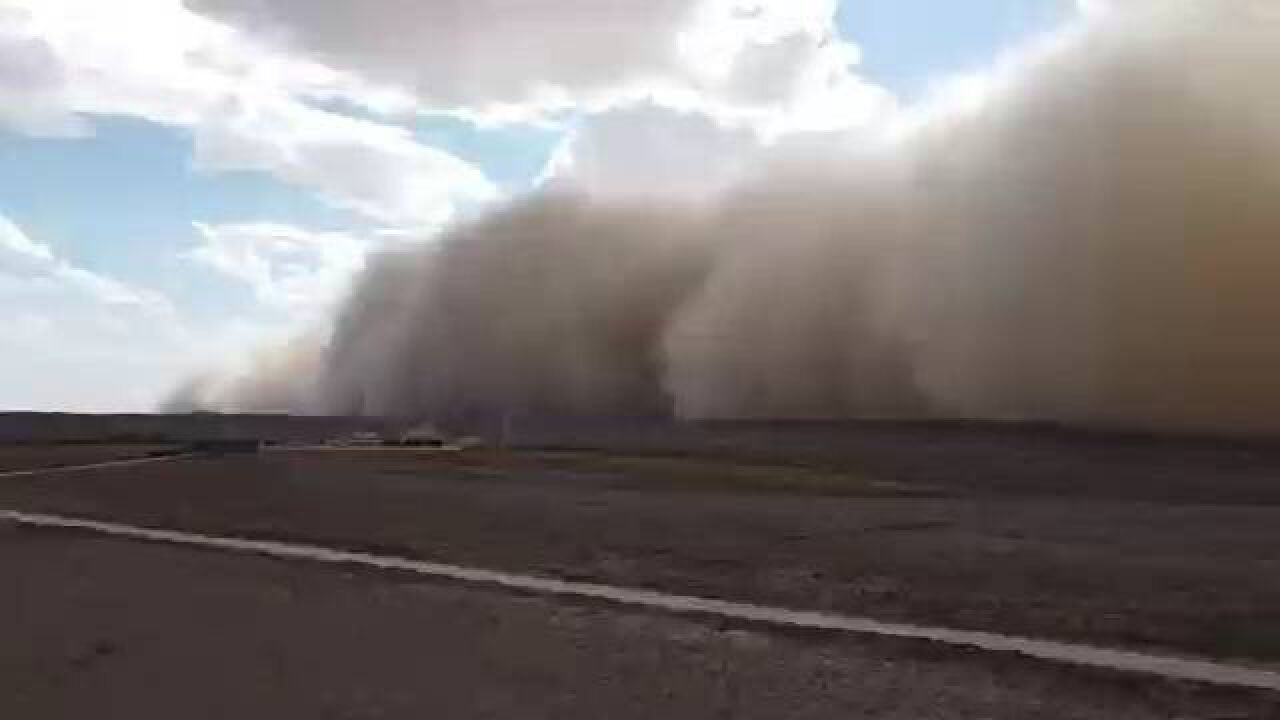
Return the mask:
M 1075 8 L 0 0 L 0 409 L 148 410 L 321 325 L 371 249 L 544 183 L 730 182 Z

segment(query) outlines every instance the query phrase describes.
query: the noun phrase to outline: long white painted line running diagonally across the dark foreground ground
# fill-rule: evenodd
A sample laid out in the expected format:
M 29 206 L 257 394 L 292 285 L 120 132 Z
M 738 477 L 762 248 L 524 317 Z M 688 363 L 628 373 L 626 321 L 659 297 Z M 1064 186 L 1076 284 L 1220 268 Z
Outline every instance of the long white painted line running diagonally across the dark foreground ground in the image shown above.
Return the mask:
M 0 510 L 0 520 L 10 520 L 24 525 L 42 528 L 88 530 L 111 537 L 224 550 L 230 552 L 266 555 L 282 559 L 308 560 L 337 565 L 360 565 L 380 570 L 413 573 L 416 575 L 435 579 L 444 578 L 472 584 L 498 585 L 521 592 L 590 598 L 623 606 L 655 609 L 676 614 L 710 615 L 776 626 L 923 639 L 950 646 L 978 648 L 992 652 L 1011 652 L 1052 662 L 1102 667 L 1123 673 L 1156 675 L 1179 680 L 1196 680 L 1216 685 L 1280 691 L 1280 673 L 1215 662 L 1212 660 L 1148 655 L 1143 652 L 1039 641 L 1001 635 L 996 633 L 955 630 L 951 628 L 929 628 L 900 623 L 881 623 L 869 618 L 787 610 L 782 607 L 768 607 L 744 602 L 730 602 L 724 600 L 667 594 L 646 589 L 579 583 L 534 575 L 518 575 L 485 570 L 481 568 L 466 568 L 461 565 L 428 562 L 404 557 L 370 555 L 366 552 L 349 552 L 310 544 L 205 536 L 182 530 L 141 528 L 120 523 L 105 523 L 99 520 L 63 518 L 36 512 Z

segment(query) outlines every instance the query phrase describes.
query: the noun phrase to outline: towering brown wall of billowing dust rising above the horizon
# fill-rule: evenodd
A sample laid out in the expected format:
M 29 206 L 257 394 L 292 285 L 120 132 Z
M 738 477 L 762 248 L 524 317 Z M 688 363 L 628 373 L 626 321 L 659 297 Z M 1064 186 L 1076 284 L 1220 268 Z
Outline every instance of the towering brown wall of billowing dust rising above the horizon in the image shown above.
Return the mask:
M 1271 5 L 1121 3 L 709 201 L 522 199 L 375 256 L 332 337 L 174 406 L 1277 430 Z

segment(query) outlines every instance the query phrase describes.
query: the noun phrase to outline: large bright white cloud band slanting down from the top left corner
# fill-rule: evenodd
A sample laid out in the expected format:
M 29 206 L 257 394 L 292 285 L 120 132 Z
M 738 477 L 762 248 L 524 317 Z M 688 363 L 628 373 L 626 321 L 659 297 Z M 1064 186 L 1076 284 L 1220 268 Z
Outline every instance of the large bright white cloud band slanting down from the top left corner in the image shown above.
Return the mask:
M 179 0 L 0 9 L 0 67 L 29 67 L 0 70 L 0 100 L 33 108 L 0 110 L 10 127 L 65 135 L 84 129 L 77 114 L 186 127 L 202 168 L 271 173 L 380 223 L 434 225 L 495 195 L 479 169 L 401 127 L 312 105 L 348 82 L 340 73 L 246 42 Z

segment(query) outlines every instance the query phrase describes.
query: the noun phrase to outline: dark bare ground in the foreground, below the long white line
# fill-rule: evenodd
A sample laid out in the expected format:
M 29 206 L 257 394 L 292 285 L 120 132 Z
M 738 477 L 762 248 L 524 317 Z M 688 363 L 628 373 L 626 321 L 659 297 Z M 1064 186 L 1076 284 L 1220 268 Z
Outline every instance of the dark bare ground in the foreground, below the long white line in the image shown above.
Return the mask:
M 0 524 L 0 716 L 1275 717 L 1280 698 Z

